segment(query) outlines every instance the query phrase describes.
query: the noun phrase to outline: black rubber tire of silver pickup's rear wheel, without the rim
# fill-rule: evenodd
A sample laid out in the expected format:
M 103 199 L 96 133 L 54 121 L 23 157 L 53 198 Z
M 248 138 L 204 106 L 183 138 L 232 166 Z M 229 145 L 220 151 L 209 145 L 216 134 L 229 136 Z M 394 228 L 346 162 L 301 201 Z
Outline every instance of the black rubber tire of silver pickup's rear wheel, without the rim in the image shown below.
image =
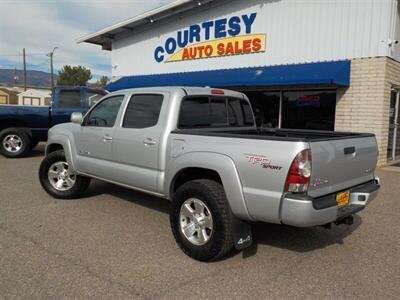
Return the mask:
M 204 202 L 211 211 L 213 232 L 204 245 L 194 245 L 182 233 L 180 209 L 190 198 Z M 185 183 L 176 191 L 170 212 L 171 229 L 179 247 L 188 256 L 200 260 L 217 260 L 227 255 L 233 248 L 232 212 L 222 185 L 218 182 L 199 179 Z

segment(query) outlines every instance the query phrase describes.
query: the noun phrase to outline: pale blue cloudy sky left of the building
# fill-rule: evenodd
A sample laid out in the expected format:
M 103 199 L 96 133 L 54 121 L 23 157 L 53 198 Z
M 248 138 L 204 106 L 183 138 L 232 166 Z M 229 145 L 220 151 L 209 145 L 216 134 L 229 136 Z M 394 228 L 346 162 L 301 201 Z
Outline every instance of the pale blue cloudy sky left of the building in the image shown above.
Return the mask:
M 77 44 L 86 34 L 159 7 L 171 0 L 0 0 L 0 69 L 50 72 L 46 56 L 54 47 L 55 73 L 63 65 L 82 65 L 93 78 L 111 76 L 111 53 Z

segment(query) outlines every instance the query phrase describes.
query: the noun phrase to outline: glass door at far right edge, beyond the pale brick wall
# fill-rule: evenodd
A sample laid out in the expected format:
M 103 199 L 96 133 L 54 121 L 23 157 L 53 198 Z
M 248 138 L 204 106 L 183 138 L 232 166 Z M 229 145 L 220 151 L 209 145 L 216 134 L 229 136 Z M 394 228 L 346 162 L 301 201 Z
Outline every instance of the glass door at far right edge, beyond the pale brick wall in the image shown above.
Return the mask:
M 390 97 L 388 161 L 400 159 L 400 91 L 393 89 Z

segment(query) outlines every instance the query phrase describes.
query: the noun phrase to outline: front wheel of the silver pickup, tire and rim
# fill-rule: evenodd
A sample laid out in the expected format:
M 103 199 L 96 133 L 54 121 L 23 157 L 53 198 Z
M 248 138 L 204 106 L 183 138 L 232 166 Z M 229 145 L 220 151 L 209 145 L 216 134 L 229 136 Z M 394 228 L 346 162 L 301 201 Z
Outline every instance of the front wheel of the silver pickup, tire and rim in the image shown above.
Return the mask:
M 89 178 L 71 170 L 63 150 L 52 152 L 43 159 L 39 179 L 43 189 L 58 199 L 79 198 L 90 184 Z

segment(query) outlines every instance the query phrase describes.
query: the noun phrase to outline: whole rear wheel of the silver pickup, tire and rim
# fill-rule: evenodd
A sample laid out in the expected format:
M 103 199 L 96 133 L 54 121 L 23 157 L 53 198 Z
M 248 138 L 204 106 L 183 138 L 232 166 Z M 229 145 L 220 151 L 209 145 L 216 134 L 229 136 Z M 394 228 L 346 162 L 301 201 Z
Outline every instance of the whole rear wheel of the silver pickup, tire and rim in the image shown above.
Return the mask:
M 232 212 L 218 182 L 199 179 L 179 187 L 170 223 L 180 248 L 194 259 L 216 260 L 233 248 Z

